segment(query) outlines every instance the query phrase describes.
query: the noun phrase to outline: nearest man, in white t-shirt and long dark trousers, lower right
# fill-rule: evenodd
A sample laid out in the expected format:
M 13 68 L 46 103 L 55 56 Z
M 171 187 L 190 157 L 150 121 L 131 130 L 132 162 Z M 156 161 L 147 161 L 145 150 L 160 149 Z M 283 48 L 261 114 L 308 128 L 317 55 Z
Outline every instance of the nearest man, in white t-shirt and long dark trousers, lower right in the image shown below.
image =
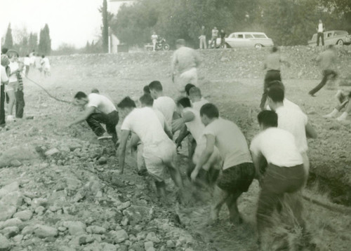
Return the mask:
M 303 189 L 307 175 L 295 138 L 287 130 L 277 128 L 278 115 L 274 111 L 261 111 L 258 123 L 260 133 L 253 138 L 250 147 L 256 174 L 261 181 L 256 222 L 258 243 L 262 250 L 270 250 L 263 236 L 272 227 L 272 214 L 279 210 L 285 194 L 294 194 L 291 210 L 299 226 L 305 229 L 303 203 L 298 191 Z M 267 163 L 264 176 L 260 175 L 262 163 Z

